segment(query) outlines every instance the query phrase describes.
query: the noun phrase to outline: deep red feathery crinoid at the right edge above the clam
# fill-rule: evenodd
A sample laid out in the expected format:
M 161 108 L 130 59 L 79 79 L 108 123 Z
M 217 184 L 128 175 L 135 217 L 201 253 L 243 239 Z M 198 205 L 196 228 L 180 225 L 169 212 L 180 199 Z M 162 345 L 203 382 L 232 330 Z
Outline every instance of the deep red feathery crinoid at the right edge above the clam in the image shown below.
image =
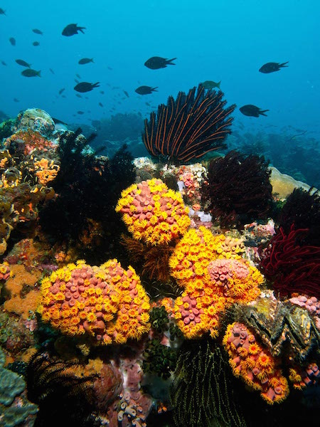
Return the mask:
M 294 229 L 288 234 L 282 227 L 261 253 L 261 265 L 273 288 L 281 295 L 301 292 L 320 297 L 320 247 L 304 245 L 307 228 Z

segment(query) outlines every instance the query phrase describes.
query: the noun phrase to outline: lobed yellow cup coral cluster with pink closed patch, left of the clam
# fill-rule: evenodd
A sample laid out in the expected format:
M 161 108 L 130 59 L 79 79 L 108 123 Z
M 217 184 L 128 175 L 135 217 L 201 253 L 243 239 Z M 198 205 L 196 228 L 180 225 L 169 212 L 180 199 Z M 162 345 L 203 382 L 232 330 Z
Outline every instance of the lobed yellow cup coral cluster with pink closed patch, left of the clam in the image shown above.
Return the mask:
M 219 317 L 234 302 L 245 304 L 260 295 L 263 277 L 240 257 L 240 241 L 213 236 L 205 227 L 189 230 L 169 260 L 171 275 L 184 288 L 174 305 L 174 317 L 187 338 L 210 332 L 218 336 Z

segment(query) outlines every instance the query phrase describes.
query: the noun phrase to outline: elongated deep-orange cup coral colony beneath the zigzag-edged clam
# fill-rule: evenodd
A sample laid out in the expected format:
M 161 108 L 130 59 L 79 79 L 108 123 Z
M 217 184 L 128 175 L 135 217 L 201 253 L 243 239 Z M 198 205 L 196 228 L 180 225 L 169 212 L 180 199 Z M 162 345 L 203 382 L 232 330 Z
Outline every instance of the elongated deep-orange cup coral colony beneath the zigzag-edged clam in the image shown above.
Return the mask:
M 280 403 L 287 398 L 287 379 L 277 368 L 277 360 L 260 346 L 255 335 L 245 325 L 237 322 L 229 325 L 223 345 L 228 351 L 233 374 L 259 390 L 268 404 Z

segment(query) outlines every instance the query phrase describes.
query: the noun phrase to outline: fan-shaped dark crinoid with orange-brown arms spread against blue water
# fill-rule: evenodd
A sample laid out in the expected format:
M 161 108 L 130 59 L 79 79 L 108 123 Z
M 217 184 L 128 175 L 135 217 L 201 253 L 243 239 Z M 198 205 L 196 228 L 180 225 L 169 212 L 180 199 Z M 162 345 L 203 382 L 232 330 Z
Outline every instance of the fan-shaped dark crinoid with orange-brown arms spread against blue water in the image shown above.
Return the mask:
M 188 162 L 210 151 L 225 148 L 225 137 L 230 134 L 235 105 L 224 108 L 219 90 L 206 91 L 202 85 L 179 92 L 176 100 L 169 96 L 166 105 L 151 112 L 144 120 L 144 145 L 153 156 Z M 229 116 L 229 117 L 228 117 Z

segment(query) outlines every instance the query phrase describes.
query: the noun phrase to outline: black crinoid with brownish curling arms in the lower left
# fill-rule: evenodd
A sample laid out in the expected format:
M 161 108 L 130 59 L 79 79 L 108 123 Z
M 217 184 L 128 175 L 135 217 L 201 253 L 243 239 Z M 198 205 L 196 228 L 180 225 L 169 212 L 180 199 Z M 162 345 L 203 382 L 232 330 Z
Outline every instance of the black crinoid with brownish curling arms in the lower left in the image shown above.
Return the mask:
M 98 427 L 93 383 L 96 376 L 75 375 L 79 362 L 36 353 L 28 364 L 28 399 L 39 406 L 35 427 Z

